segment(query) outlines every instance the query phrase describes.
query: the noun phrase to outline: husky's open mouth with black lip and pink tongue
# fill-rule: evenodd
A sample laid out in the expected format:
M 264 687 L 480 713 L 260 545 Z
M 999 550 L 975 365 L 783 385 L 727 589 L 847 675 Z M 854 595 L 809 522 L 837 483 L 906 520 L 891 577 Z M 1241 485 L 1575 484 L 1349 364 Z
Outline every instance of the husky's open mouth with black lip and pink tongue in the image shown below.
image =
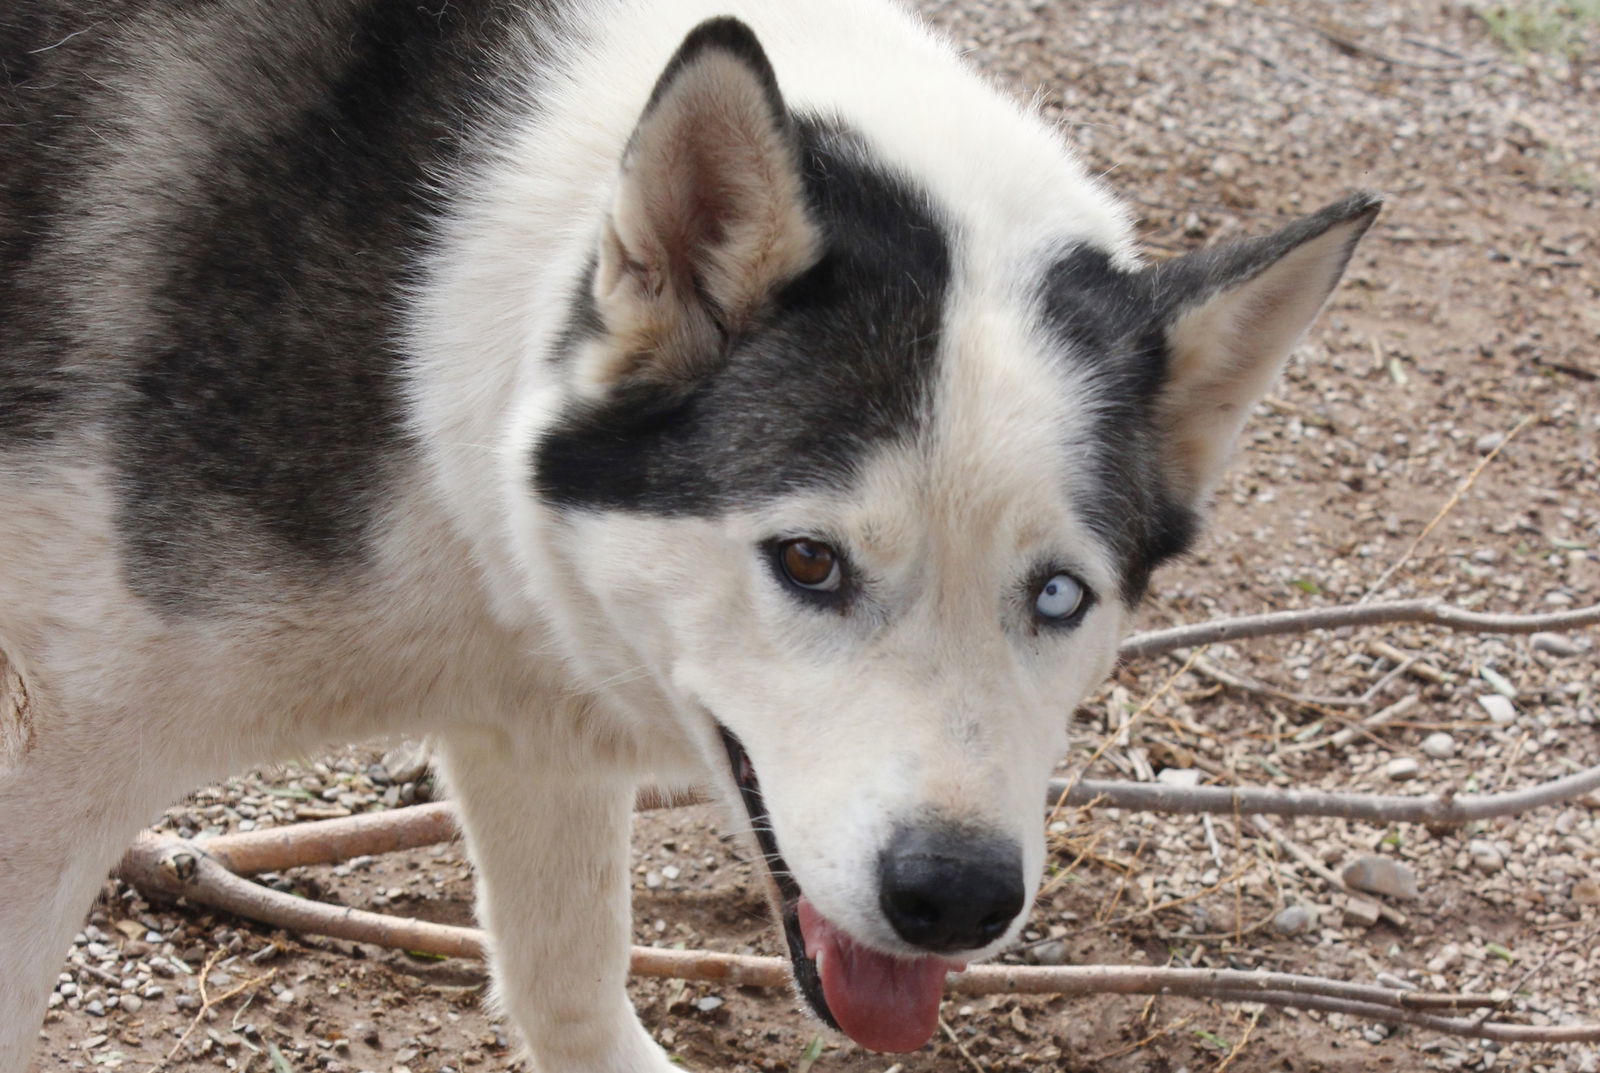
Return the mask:
M 718 723 L 717 729 L 768 875 L 778 888 L 778 911 L 800 995 L 830 1028 L 864 1047 L 906 1052 L 923 1046 L 939 1027 L 944 977 L 966 964 L 874 950 L 818 913 L 778 851 L 778 835 L 749 753 L 728 728 Z

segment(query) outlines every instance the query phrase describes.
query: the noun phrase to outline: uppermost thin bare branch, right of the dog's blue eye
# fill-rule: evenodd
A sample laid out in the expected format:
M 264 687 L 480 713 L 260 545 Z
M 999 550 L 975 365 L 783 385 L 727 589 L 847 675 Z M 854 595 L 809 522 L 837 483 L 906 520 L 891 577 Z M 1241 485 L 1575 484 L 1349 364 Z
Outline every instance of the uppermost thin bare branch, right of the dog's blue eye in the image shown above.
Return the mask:
M 1578 630 L 1600 625 L 1600 604 L 1555 611 L 1550 614 L 1493 614 L 1453 608 L 1442 600 L 1394 600 L 1389 603 L 1339 604 L 1333 608 L 1309 608 L 1306 611 L 1270 611 L 1246 614 L 1237 619 L 1216 619 L 1174 625 L 1166 630 L 1134 633 L 1122 643 L 1122 659 L 1160 656 L 1195 644 L 1219 641 L 1243 641 L 1253 636 L 1277 636 L 1282 633 L 1307 633 L 1344 625 L 1382 625 L 1389 622 L 1422 622 L 1475 633 L 1538 633 L 1541 630 Z

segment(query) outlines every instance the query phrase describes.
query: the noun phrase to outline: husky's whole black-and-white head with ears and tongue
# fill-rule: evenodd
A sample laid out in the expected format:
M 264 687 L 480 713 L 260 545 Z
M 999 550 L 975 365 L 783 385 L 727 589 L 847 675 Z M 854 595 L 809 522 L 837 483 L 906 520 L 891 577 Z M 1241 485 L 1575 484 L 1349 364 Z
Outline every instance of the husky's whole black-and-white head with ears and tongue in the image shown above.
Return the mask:
M 1021 926 L 1067 716 L 1376 208 L 1141 267 L 942 203 L 790 110 L 739 22 L 667 66 L 533 480 L 627 652 L 597 680 L 653 683 L 742 803 L 800 988 L 858 1041 L 920 1046 Z

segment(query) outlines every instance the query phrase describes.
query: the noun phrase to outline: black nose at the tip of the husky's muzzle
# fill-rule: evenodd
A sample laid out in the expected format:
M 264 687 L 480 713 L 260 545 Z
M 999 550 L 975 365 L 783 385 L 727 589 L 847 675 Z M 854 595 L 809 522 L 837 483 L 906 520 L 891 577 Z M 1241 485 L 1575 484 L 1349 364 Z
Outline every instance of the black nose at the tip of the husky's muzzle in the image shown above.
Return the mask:
M 992 832 L 901 827 L 878 857 L 883 915 L 901 939 L 933 953 L 994 942 L 1022 900 L 1022 851 Z

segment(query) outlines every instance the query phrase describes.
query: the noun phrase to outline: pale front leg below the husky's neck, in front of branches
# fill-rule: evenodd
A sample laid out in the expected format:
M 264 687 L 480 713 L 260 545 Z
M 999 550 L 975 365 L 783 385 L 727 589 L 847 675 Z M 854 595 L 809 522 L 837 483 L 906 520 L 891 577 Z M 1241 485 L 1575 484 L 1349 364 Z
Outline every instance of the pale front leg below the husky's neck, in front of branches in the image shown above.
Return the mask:
M 498 732 L 445 744 L 498 1003 L 539 1073 L 672 1070 L 624 990 L 634 785 L 562 768 Z

